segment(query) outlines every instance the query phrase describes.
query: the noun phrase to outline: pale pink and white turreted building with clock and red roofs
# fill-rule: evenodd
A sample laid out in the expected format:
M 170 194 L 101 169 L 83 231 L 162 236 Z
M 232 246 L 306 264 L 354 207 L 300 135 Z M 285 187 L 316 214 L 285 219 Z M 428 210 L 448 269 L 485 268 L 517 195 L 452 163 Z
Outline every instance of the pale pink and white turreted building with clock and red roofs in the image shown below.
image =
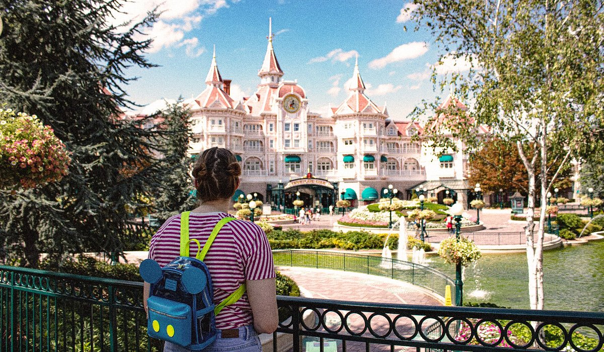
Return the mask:
M 310 112 L 304 89 L 282 79 L 272 36 L 258 75 L 257 91 L 234 101 L 214 54 L 205 90 L 188 103 L 194 133 L 190 153 L 213 146 L 233 151 L 241 159 L 243 192 L 266 196 L 266 184 L 286 183 L 309 171 L 339 182 L 340 191 L 351 188 L 359 200 L 367 187 L 379 192 L 393 184 L 406 197 L 406 189 L 426 179 L 463 179 L 466 156 L 456 153 L 451 168 L 443 170 L 431 150 L 424 147 L 422 153 L 422 145 L 411 141 L 422 126 L 394 122 L 385 106 L 374 104 L 364 94 L 358 63 L 348 97 L 329 116 Z

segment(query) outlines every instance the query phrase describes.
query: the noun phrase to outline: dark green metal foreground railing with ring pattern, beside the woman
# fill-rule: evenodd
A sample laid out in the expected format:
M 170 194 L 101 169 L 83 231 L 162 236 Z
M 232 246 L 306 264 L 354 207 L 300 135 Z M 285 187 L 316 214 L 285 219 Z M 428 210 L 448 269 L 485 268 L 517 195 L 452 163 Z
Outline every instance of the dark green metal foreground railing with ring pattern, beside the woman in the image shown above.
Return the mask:
M 142 283 L 0 266 L 1 350 L 161 351 L 162 342 L 146 334 L 142 296 Z M 418 351 L 599 351 L 604 340 L 600 312 L 286 296 L 278 296 L 277 305 L 281 318 L 273 351 L 323 351 L 328 344 L 338 351 L 394 351 L 397 346 Z M 496 330 L 487 331 L 488 340 L 481 333 L 487 325 Z M 522 335 L 513 333 L 517 327 L 524 328 Z M 557 345 L 546 340 L 551 334 L 544 330 L 551 328 L 559 330 Z

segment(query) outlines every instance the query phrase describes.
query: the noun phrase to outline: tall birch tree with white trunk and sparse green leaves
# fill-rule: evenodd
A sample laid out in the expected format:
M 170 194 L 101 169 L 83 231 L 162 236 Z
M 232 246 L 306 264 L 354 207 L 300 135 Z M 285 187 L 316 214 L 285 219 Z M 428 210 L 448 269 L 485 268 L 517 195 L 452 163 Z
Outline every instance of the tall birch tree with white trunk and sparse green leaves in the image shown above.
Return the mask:
M 603 119 L 603 3 L 413 2 L 415 6 L 408 8 L 413 10 L 416 30 L 427 28 L 444 53 L 433 66 L 432 82 L 441 92 L 452 89 L 470 106 L 467 111 L 455 106 L 439 110 L 438 102 L 425 101 L 413 114 L 417 118 L 436 112 L 426 126 L 439 119 L 434 125 L 462 139 L 469 152 L 483 143 L 475 133 L 477 126 L 487 126 L 492 136 L 516 146 L 528 179 L 530 307 L 543 309 L 546 195 L 560 170 L 590 143 L 591 132 Z M 455 64 L 468 65 L 469 71 L 456 72 Z M 438 132 L 427 131 L 434 146 L 454 149 L 451 139 Z M 541 200 L 536 204 L 538 194 Z

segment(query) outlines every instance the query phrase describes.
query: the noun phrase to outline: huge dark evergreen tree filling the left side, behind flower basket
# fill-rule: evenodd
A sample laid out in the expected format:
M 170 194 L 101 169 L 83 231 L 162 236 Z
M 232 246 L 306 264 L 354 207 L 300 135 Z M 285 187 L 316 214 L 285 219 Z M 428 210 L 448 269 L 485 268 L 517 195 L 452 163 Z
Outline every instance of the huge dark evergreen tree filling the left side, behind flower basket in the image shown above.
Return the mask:
M 124 86 L 129 66 L 149 68 L 150 39 L 141 22 L 119 28 L 109 20 L 118 0 L 0 0 L 0 97 L 8 107 L 36 114 L 66 144 L 72 163 L 57 184 L 0 190 L 0 226 L 7 254 L 36 267 L 40 251 L 118 253 L 128 210 L 146 206 L 138 194 L 161 186 L 162 131 L 121 118 L 131 104 Z M 153 153 L 149 153 L 153 150 Z M 144 165 L 126 172 L 132 165 Z

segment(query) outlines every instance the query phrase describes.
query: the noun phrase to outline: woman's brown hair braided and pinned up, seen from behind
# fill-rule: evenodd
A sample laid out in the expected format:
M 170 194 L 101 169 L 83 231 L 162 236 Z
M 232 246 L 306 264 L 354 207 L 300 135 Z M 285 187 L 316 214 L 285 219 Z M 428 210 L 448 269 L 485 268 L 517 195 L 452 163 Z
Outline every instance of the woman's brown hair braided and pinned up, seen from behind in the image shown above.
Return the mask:
M 191 172 L 196 181 L 199 202 L 233 197 L 240 174 L 241 166 L 230 150 L 219 147 L 204 150 Z

